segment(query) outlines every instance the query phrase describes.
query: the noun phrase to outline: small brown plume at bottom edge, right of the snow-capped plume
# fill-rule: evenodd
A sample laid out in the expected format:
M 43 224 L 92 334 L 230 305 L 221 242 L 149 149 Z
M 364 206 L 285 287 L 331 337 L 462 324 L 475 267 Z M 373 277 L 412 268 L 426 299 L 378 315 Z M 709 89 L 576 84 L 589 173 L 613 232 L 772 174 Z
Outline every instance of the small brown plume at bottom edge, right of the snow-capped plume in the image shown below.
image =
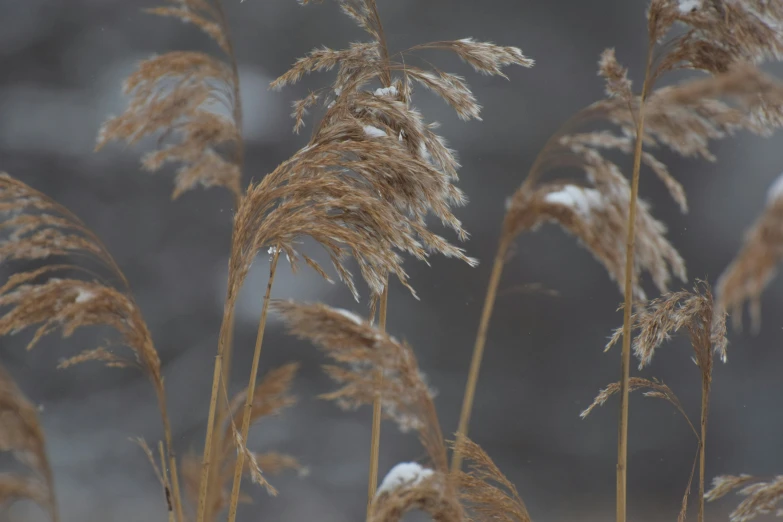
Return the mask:
M 462 438 L 454 451 L 468 462 L 468 472 L 457 471 L 456 480 L 470 520 L 530 522 L 517 488 L 478 444 Z

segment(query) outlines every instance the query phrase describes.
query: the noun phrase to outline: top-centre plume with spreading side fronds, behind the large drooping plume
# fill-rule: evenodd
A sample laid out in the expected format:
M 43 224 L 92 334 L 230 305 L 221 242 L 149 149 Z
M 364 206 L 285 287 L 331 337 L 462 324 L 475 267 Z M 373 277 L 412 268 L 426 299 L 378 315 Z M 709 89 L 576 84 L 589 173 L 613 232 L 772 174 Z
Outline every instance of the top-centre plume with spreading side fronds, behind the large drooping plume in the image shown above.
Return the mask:
M 532 66 L 532 60 L 515 47 L 471 38 L 419 45 L 390 58 L 375 2 L 339 0 L 338 4 L 370 34 L 372 41 L 351 44 L 344 50 L 316 49 L 272 82 L 273 88 L 281 88 L 310 72 L 338 70 L 329 87 L 331 94 L 311 93 L 294 104 L 297 130 L 304 124 L 308 106 L 319 98 L 327 105 L 325 116 L 304 149 L 312 159 L 298 161 L 307 161 L 302 168 L 314 169 L 313 174 L 320 170 L 357 176 L 373 187 L 377 198 L 406 213 L 409 219 L 423 224 L 431 212 L 465 239 L 467 234 L 451 211 L 453 205 L 466 201 L 453 185 L 459 164 L 454 151 L 433 132 L 437 125 L 425 123 L 412 107 L 412 84 L 433 91 L 463 119 L 478 118 L 480 106 L 461 77 L 423 69 L 411 62 L 421 50 L 442 49 L 456 53 L 479 72 L 503 75 L 503 67 Z M 381 88 L 368 90 L 373 81 L 379 81 Z M 425 236 L 422 242 L 431 250 L 455 255 L 442 240 L 432 242 Z

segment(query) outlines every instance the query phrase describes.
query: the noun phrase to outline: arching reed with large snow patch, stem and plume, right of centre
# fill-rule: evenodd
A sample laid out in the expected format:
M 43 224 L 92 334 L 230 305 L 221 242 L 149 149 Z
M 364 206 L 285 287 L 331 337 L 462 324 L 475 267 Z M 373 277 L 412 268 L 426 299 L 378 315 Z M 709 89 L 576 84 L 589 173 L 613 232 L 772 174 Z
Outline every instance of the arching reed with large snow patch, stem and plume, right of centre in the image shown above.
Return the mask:
M 464 429 L 459 433 L 467 429 L 497 288 L 509 249 L 518 235 L 547 222 L 560 225 L 604 265 L 621 291 L 625 290 L 626 281 L 630 282 L 634 301 L 647 299 L 640 280 L 643 271 L 650 273 L 661 292 L 667 291 L 672 275 L 685 280 L 685 263 L 666 239 L 666 227 L 652 217 L 643 201 L 634 203 L 634 268 L 630 272 L 626 270 L 627 209 L 635 198 L 634 190 L 620 167 L 607 159 L 603 151 L 633 151 L 631 136 L 638 110 L 634 107 L 639 101 L 629 98 L 630 91 L 623 94 L 622 86 L 627 86 L 629 80 L 613 52 L 602 55 L 599 67 L 607 80 L 610 97 L 577 113 L 549 139 L 525 182 L 508 201 L 463 402 L 461 427 Z M 773 105 L 783 102 L 783 84 L 750 66 L 737 66 L 718 76 L 663 87 L 654 91 L 645 105 L 645 140 L 651 147 L 666 146 L 683 155 L 712 159 L 708 148 L 711 140 L 727 137 L 740 129 L 759 135 L 769 133 L 769 127 L 759 122 L 756 113 L 759 99 Z M 618 126 L 620 133 L 574 132 L 577 126 L 601 122 Z M 641 161 L 664 182 L 681 209 L 686 210 L 684 190 L 666 166 L 649 152 L 642 154 Z M 545 178 L 562 169 L 580 170 L 584 179 Z

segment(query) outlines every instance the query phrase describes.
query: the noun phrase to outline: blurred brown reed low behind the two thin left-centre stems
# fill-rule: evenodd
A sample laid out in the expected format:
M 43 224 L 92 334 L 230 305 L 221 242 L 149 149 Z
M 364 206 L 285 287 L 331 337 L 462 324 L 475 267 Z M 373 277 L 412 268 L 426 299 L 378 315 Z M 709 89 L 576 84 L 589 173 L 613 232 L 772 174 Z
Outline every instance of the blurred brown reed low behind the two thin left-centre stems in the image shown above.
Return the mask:
M 280 414 L 282 410 L 296 403 L 296 397 L 290 394 L 290 387 L 298 368 L 297 363 L 286 364 L 270 371 L 258 383 L 252 400 L 251 423 L 253 425 L 263 418 Z M 247 448 L 237 427 L 242 420 L 246 396 L 247 389 L 237 393 L 226 408 L 230 416 L 225 422 L 222 435 L 218 437 L 219 454 L 216 455 L 217 462 L 221 464 L 218 470 L 220 494 L 212 497 L 212 504 L 207 506 L 205 516 L 208 520 L 213 520 L 229 504 L 231 492 L 229 488 L 234 476 L 236 455 L 239 452 L 245 455 L 243 473 L 254 483 L 264 486 L 271 495 L 276 495 L 277 490 L 266 480 L 266 476 L 277 475 L 287 470 L 294 470 L 300 474 L 307 472 L 307 469 L 291 455 L 278 452 L 256 453 Z M 200 473 L 199 457 L 192 453 L 186 455 L 182 462 L 182 478 L 185 491 L 194 501 L 198 499 Z M 249 498 L 244 497 L 240 500 L 249 501 Z

